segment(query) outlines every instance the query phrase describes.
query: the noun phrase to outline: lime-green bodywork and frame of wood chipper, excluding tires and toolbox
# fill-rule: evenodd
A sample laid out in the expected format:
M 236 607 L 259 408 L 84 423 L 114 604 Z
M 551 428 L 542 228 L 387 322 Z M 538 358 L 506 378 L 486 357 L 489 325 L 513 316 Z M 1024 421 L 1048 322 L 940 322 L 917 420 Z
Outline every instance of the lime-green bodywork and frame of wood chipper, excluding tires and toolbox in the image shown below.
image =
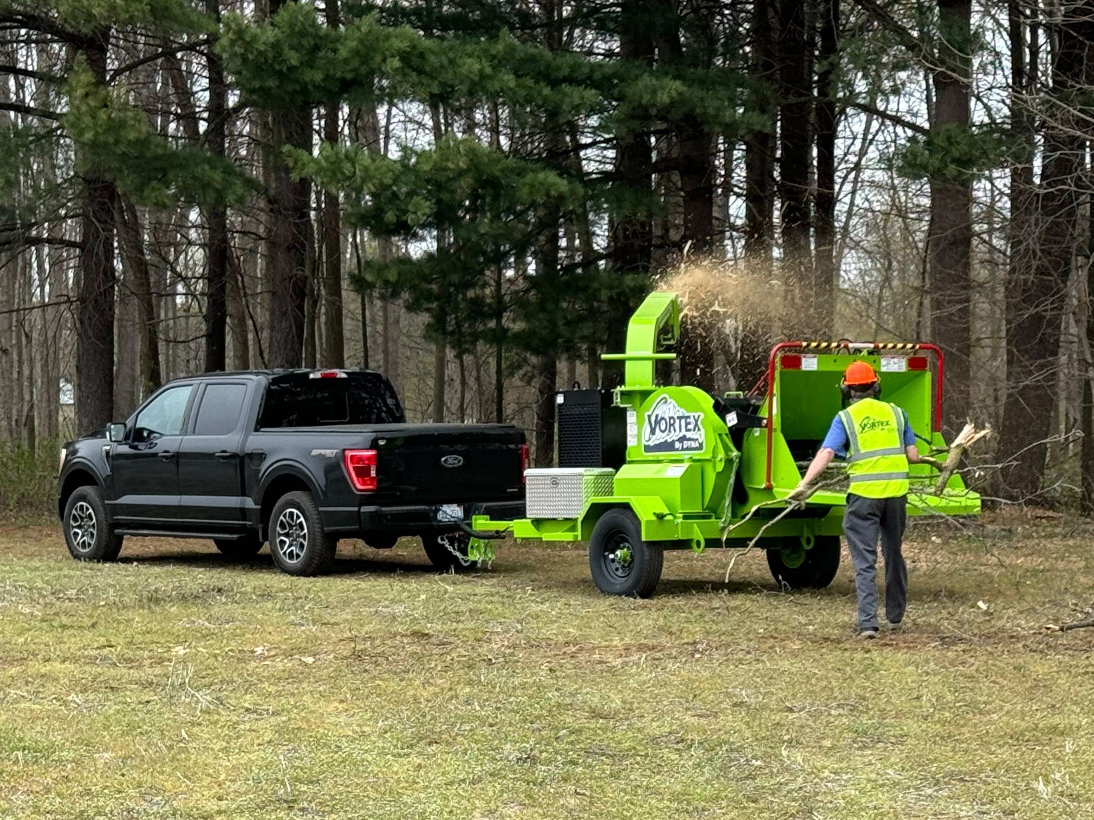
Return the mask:
M 624 385 L 616 388 L 613 401 L 628 413 L 627 458 L 616 472 L 612 495 L 589 499 L 575 518 L 477 516 L 473 527 L 508 531 L 516 539 L 591 541 L 608 511 L 625 509 L 633 516 L 635 535 L 659 549 L 745 547 L 767 527 L 757 546 L 778 550 L 783 563 L 805 560 L 817 544 L 830 550 L 835 541 L 838 552 L 842 491 L 818 491 L 803 509 L 775 523 L 771 518 L 783 512 L 785 505 L 777 502 L 798 485 L 799 465 L 816 452 L 841 409 L 838 384 L 856 360 L 871 364 L 881 376 L 883 398 L 907 411 L 921 453 L 946 449 L 940 432 L 945 362 L 934 345 L 780 342 L 753 391 L 766 391 L 756 410 L 763 426 L 741 427 L 735 413 L 720 412 L 724 406 L 703 390 L 656 384 L 656 364 L 675 359 L 672 350 L 678 338 L 676 295 L 653 293 L 630 320 L 627 352 L 603 356 L 624 362 Z M 911 465 L 910 515 L 979 514 L 980 496 L 961 476 L 952 476 L 941 494 L 933 492 L 936 480 L 933 468 Z

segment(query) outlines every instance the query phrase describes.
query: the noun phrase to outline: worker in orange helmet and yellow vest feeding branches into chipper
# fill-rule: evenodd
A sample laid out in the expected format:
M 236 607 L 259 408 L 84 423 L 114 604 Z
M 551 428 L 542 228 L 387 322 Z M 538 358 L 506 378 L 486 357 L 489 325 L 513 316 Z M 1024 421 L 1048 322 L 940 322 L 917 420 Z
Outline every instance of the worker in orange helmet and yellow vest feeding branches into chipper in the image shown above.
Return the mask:
M 856 635 L 877 637 L 877 540 L 885 557 L 885 616 L 900 629 L 908 597 L 908 570 L 900 551 L 908 504 L 908 465 L 941 462 L 919 455 L 908 414 L 878 400 L 881 382 L 866 362 L 852 362 L 840 390 L 850 405 L 838 412 L 791 501 L 804 502 L 835 457 L 846 458 L 850 476 L 843 534 L 854 564 L 859 599 Z

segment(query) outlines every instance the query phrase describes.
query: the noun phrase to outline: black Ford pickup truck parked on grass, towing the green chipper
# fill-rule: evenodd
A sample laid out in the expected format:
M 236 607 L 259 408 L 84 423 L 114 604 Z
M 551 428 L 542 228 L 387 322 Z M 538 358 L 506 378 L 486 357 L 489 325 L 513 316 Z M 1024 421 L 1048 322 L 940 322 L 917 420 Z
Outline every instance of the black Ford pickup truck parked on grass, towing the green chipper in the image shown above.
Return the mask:
M 340 538 L 419 536 L 440 569 L 467 565 L 472 515 L 524 515 L 524 434 L 509 424 L 408 424 L 368 371 L 179 378 L 130 418 L 67 444 L 57 513 L 75 559 L 125 536 L 208 538 L 245 558 L 265 541 L 293 575 L 326 570 Z

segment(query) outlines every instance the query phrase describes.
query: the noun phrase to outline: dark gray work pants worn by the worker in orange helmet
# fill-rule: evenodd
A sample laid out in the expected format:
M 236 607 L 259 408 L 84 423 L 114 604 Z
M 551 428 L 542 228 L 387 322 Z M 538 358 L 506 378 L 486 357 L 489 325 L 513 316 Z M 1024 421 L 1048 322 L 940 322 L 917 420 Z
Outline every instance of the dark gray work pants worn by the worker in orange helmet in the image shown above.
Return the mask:
M 877 629 L 877 539 L 885 557 L 885 617 L 889 623 L 904 619 L 908 601 L 908 567 L 900 540 L 908 517 L 908 496 L 864 499 L 847 494 L 843 535 L 854 564 L 854 589 L 859 595 L 859 629 Z

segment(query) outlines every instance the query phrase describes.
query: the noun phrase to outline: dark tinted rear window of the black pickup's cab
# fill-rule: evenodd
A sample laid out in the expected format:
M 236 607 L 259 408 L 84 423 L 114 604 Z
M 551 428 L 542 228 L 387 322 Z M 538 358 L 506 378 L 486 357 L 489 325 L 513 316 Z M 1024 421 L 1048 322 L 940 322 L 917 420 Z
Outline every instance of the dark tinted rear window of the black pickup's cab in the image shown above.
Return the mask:
M 258 426 L 314 427 L 325 424 L 397 424 L 406 421 L 391 382 L 379 373 L 347 378 L 310 378 L 292 373 L 270 380 Z

